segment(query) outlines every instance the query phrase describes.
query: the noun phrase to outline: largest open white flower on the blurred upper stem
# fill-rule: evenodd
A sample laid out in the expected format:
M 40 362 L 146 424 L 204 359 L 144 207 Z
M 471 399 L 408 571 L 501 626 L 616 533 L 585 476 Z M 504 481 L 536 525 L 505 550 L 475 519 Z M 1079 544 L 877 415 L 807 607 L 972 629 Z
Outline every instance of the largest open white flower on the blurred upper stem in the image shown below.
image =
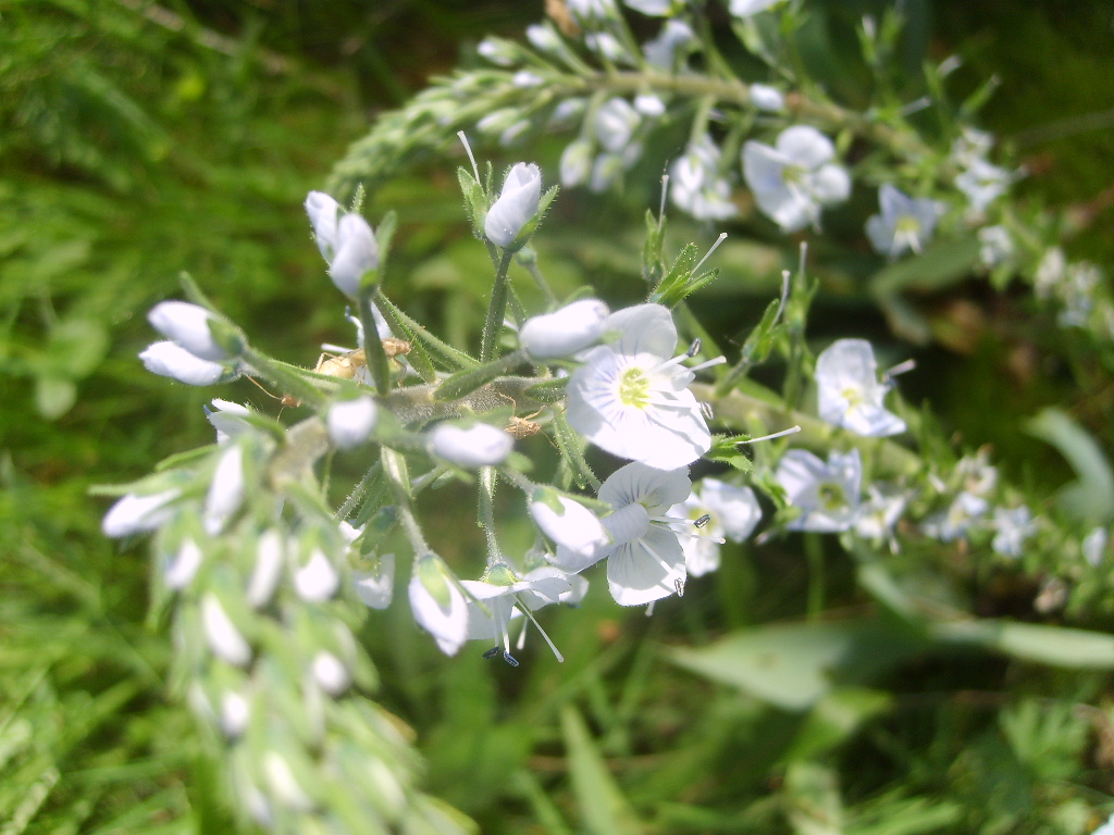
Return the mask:
M 831 160 L 831 139 L 805 125 L 786 128 L 775 147 L 753 139 L 743 146 L 743 174 L 759 208 L 782 232 L 797 232 L 820 220 L 820 207 L 842 203 L 851 194 L 847 169 Z

